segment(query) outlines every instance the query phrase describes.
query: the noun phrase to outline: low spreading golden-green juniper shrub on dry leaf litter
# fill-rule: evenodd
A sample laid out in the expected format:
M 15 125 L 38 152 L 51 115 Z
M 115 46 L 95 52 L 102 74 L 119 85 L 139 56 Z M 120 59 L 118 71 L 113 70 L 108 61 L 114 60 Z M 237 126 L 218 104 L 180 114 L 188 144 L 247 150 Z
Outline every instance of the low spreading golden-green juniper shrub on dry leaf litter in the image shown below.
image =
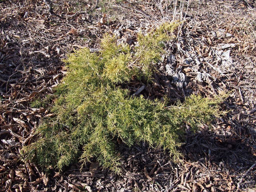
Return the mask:
M 152 74 L 163 42 L 169 39 L 166 31 L 176 26 L 164 24 L 148 36 L 140 34 L 141 47 L 135 54 L 127 45 L 116 45 L 109 35 L 104 36 L 100 53 L 85 48 L 70 54 L 64 60 L 68 74 L 56 88 L 57 99 L 50 109 L 55 116 L 45 118 L 38 128 L 40 139 L 24 147 L 26 157 L 35 157 L 45 168 L 59 169 L 95 157 L 104 167 L 119 172 L 120 157 L 115 151 L 119 138 L 128 146 L 146 141 L 150 146 L 163 147 L 177 159 L 184 123 L 196 129 L 209 122 L 220 114 L 222 100 L 192 95 L 184 103 L 167 106 L 142 96 L 129 97 L 128 90 L 119 86 L 132 76 Z M 134 68 L 129 67 L 131 63 L 135 63 Z

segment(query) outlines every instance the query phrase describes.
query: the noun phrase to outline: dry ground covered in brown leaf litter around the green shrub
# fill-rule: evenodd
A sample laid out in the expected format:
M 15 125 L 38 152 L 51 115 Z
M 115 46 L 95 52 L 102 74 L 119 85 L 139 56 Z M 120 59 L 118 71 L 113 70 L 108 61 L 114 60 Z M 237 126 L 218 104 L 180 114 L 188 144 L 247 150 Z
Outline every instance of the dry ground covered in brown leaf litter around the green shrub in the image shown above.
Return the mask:
M 256 3 L 251 1 L 0 1 L 0 190 L 1 191 L 255 191 L 256 182 Z M 25 162 L 20 149 L 37 139 L 45 98 L 65 74 L 61 59 L 80 47 L 99 47 L 105 32 L 134 46 L 164 21 L 180 19 L 167 45 L 155 84 L 142 92 L 165 94 L 175 102 L 186 95 L 230 91 L 230 110 L 189 132 L 173 163 L 168 152 L 137 143 L 120 144 L 123 175 L 88 163 L 64 172 L 44 172 Z M 142 82 L 129 84 L 131 91 Z M 96 168 L 92 172 L 92 168 Z M 92 177 L 94 175 L 94 177 Z

